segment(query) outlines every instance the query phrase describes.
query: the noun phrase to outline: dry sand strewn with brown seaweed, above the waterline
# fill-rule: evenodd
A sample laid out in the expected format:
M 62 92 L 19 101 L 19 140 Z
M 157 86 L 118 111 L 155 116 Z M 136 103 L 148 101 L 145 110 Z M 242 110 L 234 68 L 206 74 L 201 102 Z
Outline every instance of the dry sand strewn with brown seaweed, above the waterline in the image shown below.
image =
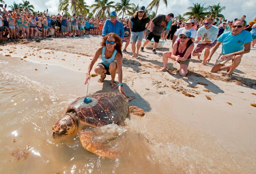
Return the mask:
M 23 59 L 20 63 L 31 61 L 46 67 L 58 65 L 86 73 L 100 42 L 101 37 L 97 36 L 47 38 L 40 43 L 21 40 L 4 44 L 0 47 L 0 53 Z M 235 161 L 235 165 L 246 168 L 246 172 L 255 172 L 256 107 L 250 104 L 256 103 L 256 95 L 252 94 L 256 93 L 256 49 L 252 48 L 249 54 L 243 56 L 241 64 L 234 71 L 234 79 L 226 81 L 223 78 L 224 71 L 210 72 L 221 47 L 207 66 L 198 66 L 200 62 L 192 57 L 188 75 L 185 77 L 179 75 L 179 64 L 174 64 L 170 59 L 167 71 L 159 72 L 163 66 L 162 54 L 169 51 L 170 47 L 171 42 L 167 41 L 162 49 L 156 50 L 156 55 L 152 53 L 152 49 L 145 48 L 143 53 L 139 52 L 138 58 L 131 58 L 129 45 L 128 54 L 123 53 L 124 91 L 126 95 L 138 94 L 137 100 L 131 103 L 146 111 L 141 124 L 157 127 L 147 130 L 152 133 L 150 139 L 170 142 L 173 137 L 168 136 L 168 131 L 174 128 L 169 129 L 169 125 L 164 122 L 175 120 L 186 125 L 186 129 L 194 130 L 191 135 L 195 136 L 198 131 L 198 134 L 212 136 L 214 142 L 223 148 L 218 152 L 226 153 Z M 91 74 L 93 73 L 92 71 Z M 102 87 L 102 84 L 97 83 L 98 77 L 92 77 L 90 80 L 91 93 Z M 106 80 L 103 86 L 108 85 L 110 76 L 107 76 Z M 79 83 L 83 84 L 84 81 Z M 161 115 L 163 122 L 154 120 L 154 115 Z M 194 136 L 181 144 L 189 144 Z M 198 135 L 196 137 L 198 138 Z M 199 141 L 203 142 L 203 139 Z M 213 147 L 207 148 L 211 143 L 205 143 L 205 151 L 214 151 Z

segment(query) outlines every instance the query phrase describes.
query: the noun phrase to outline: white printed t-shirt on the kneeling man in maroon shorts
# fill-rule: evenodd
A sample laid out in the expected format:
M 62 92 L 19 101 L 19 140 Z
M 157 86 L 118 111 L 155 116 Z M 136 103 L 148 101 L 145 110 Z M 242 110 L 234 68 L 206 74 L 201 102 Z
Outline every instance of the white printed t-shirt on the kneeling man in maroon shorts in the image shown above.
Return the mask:
M 198 43 L 202 43 L 204 38 L 207 40 L 211 40 L 211 43 L 213 43 L 215 40 L 217 40 L 217 35 L 219 32 L 219 28 L 217 26 L 212 25 L 210 29 L 206 30 L 203 27 L 199 28 L 196 33 L 196 38 L 199 36 L 202 36 L 201 40 Z

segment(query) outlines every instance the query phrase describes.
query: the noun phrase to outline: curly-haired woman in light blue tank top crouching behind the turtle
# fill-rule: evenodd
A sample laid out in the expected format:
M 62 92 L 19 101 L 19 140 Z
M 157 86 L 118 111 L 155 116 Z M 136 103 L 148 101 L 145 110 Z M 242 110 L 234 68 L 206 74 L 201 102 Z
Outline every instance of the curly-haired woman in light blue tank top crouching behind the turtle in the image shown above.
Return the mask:
M 122 89 L 122 40 L 115 33 L 109 33 L 104 36 L 101 42 L 101 47 L 95 52 L 92 61 L 89 63 L 88 72 L 85 84 L 90 80 L 90 72 L 97 59 L 100 58 L 100 63 L 94 68 L 96 74 L 101 75 L 98 82 L 103 83 L 106 75 L 111 75 L 112 89 L 117 89 L 125 95 Z M 115 76 L 118 72 L 118 85 L 115 82 Z M 125 95 L 126 96 L 126 95 Z

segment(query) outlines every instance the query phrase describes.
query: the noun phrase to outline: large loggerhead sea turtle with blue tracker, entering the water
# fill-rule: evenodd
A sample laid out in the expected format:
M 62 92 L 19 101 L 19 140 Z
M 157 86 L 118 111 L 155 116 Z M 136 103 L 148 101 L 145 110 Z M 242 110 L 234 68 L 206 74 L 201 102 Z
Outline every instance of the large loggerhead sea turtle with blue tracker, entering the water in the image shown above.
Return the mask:
M 105 92 L 88 95 L 91 103 L 84 103 L 85 97 L 73 101 L 67 106 L 66 113 L 52 127 L 52 137 L 57 139 L 77 133 L 86 126 L 102 127 L 109 124 L 122 125 L 129 113 L 144 116 L 143 109 L 130 106 L 128 101 L 135 97 L 125 97 L 120 92 Z M 114 159 L 119 156 L 115 146 L 109 145 L 109 141 L 96 142 L 93 136 L 96 132 L 86 130 L 81 132 L 80 141 L 82 146 L 89 152 L 98 156 Z M 106 143 L 107 142 L 107 143 Z

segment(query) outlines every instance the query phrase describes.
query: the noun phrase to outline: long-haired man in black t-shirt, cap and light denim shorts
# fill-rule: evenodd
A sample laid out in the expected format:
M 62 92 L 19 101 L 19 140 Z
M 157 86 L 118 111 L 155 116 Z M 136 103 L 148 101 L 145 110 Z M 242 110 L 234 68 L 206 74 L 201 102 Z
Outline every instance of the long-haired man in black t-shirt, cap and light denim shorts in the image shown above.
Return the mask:
M 133 22 L 133 25 L 131 25 Z M 150 18 L 147 17 L 145 12 L 145 6 L 140 6 L 139 10 L 134 13 L 134 15 L 129 20 L 130 32 L 131 32 L 131 44 L 132 44 L 132 57 L 138 57 L 139 48 L 144 36 L 144 30 L 147 29 L 149 25 Z M 147 25 L 148 24 L 148 25 Z M 147 25 L 147 26 L 146 26 Z M 137 51 L 135 44 L 137 43 Z M 135 53 L 136 51 L 136 53 Z

